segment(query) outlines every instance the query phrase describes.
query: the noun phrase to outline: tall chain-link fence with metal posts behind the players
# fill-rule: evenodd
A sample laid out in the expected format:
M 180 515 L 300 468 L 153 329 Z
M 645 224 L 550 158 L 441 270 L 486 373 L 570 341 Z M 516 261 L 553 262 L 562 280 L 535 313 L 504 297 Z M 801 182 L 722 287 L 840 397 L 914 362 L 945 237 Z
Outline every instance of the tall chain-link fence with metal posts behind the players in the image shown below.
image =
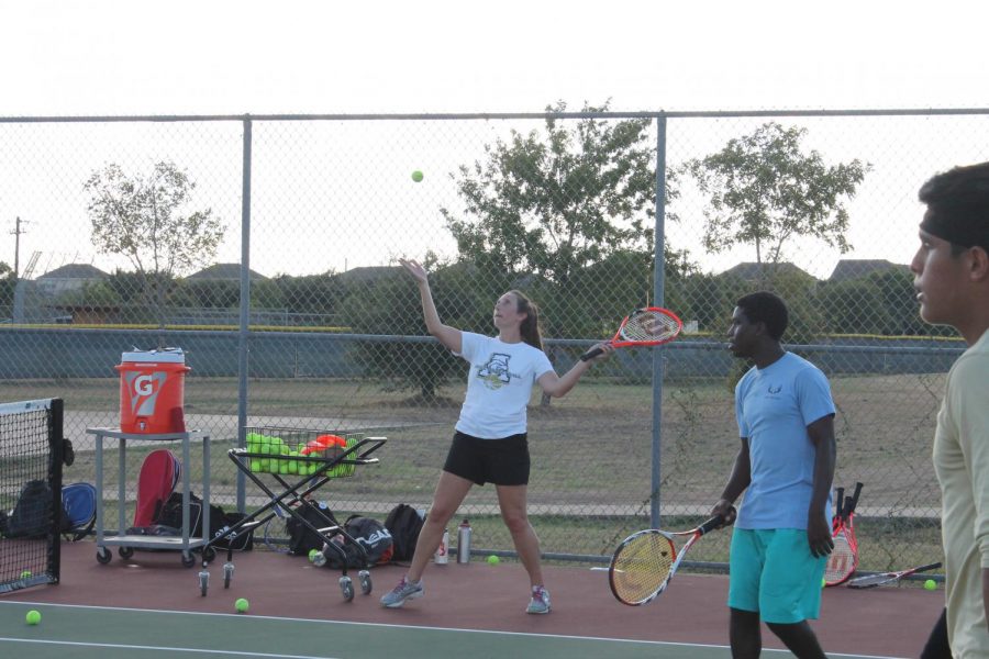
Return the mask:
M 215 503 L 264 502 L 226 459 L 245 426 L 358 432 L 388 437 L 380 463 L 318 496 L 384 518 L 400 502 L 427 507 L 466 388 L 463 361 L 424 336 L 398 257 L 426 264 L 441 317 L 463 330 L 491 334 L 498 295 L 526 292 L 560 373 L 631 309 L 665 305 L 681 339 L 620 351 L 529 410 L 543 550 L 600 560 L 638 528 L 694 523 L 718 498 L 744 366 L 724 334 L 741 294 L 770 289 L 790 305 L 789 348 L 831 379 L 835 485 L 865 483 L 862 568 L 930 562 L 931 438 L 964 346 L 918 317 L 916 190 L 989 158 L 971 138 L 987 119 L 563 107 L 2 119 L 0 220 L 16 268 L 0 281 L 0 400 L 65 399 L 66 482 L 92 481 L 86 429 L 119 423 L 121 353 L 179 346 L 187 423 L 212 438 Z M 152 448 L 130 447 L 127 478 Z M 115 520 L 134 502 L 111 501 L 107 476 Z M 511 551 L 493 488 L 475 488 L 462 516 L 479 551 Z M 727 538 L 696 558 L 726 562 Z

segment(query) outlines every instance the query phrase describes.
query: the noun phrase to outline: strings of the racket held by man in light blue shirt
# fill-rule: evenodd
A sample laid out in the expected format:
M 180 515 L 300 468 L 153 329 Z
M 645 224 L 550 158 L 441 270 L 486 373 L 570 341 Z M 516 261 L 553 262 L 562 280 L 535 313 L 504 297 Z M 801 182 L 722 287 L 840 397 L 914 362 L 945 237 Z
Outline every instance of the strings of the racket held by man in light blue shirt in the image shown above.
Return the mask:
M 612 587 L 625 602 L 651 597 L 666 582 L 676 560 L 674 544 L 658 533 L 643 534 L 614 558 Z

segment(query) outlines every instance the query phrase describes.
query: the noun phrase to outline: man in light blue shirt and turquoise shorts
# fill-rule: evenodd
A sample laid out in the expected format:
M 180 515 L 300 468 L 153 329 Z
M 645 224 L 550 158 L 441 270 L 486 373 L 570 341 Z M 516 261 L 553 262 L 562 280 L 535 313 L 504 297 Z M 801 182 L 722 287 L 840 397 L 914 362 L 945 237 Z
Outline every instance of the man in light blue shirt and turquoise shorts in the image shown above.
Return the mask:
M 784 301 L 758 292 L 736 302 L 729 331 L 732 354 L 754 364 L 735 387 L 742 446 L 712 511 L 735 522 L 727 602 L 735 659 L 759 656 L 760 621 L 797 657 L 824 657 L 807 621 L 820 613 L 834 547 L 834 402 L 824 373 L 780 345 L 787 323 Z

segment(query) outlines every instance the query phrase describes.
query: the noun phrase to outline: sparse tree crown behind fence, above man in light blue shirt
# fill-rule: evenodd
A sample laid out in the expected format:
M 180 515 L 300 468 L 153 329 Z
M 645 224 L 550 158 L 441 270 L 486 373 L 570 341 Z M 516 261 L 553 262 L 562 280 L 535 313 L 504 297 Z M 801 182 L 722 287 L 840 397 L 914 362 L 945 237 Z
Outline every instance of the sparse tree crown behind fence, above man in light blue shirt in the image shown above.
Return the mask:
M 710 196 L 703 237 L 709 252 L 752 244 L 757 263 L 764 260 L 764 246 L 766 260 L 779 263 L 784 243 L 797 235 L 818 237 L 842 254 L 851 249 L 842 201 L 855 194 L 870 166 L 855 159 L 829 167 L 818 152 L 803 153 L 805 134 L 807 129 L 769 122 L 685 164 Z

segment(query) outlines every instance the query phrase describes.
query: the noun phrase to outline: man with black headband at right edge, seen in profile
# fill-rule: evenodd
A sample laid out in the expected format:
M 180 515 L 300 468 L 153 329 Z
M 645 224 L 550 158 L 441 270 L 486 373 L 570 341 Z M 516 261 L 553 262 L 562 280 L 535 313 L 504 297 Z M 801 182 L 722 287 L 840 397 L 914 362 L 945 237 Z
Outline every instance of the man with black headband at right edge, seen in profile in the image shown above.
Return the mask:
M 969 346 L 948 372 L 934 433 L 946 608 L 921 657 L 989 658 L 989 163 L 935 176 L 920 200 L 910 269 L 921 317 Z

